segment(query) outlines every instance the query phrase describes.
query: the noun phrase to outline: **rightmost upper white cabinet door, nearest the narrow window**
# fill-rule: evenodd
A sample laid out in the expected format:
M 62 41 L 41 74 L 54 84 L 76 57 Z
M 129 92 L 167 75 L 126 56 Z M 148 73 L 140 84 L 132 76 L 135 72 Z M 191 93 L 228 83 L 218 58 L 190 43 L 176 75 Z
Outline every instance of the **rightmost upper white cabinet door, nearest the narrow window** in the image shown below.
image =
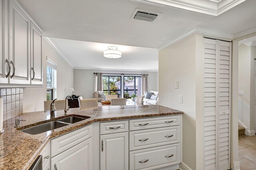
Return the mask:
M 31 84 L 43 84 L 42 72 L 42 32 L 31 24 Z

